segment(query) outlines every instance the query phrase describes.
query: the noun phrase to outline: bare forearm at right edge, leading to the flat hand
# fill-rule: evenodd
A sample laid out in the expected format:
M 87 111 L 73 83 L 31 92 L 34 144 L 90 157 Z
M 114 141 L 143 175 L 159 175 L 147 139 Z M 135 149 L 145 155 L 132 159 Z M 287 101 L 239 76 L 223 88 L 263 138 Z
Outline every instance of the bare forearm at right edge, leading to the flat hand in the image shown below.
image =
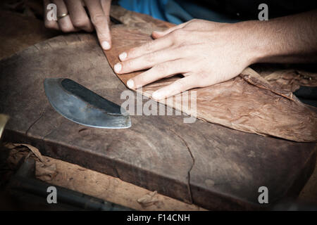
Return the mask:
M 236 23 L 250 63 L 317 62 L 317 11 Z

